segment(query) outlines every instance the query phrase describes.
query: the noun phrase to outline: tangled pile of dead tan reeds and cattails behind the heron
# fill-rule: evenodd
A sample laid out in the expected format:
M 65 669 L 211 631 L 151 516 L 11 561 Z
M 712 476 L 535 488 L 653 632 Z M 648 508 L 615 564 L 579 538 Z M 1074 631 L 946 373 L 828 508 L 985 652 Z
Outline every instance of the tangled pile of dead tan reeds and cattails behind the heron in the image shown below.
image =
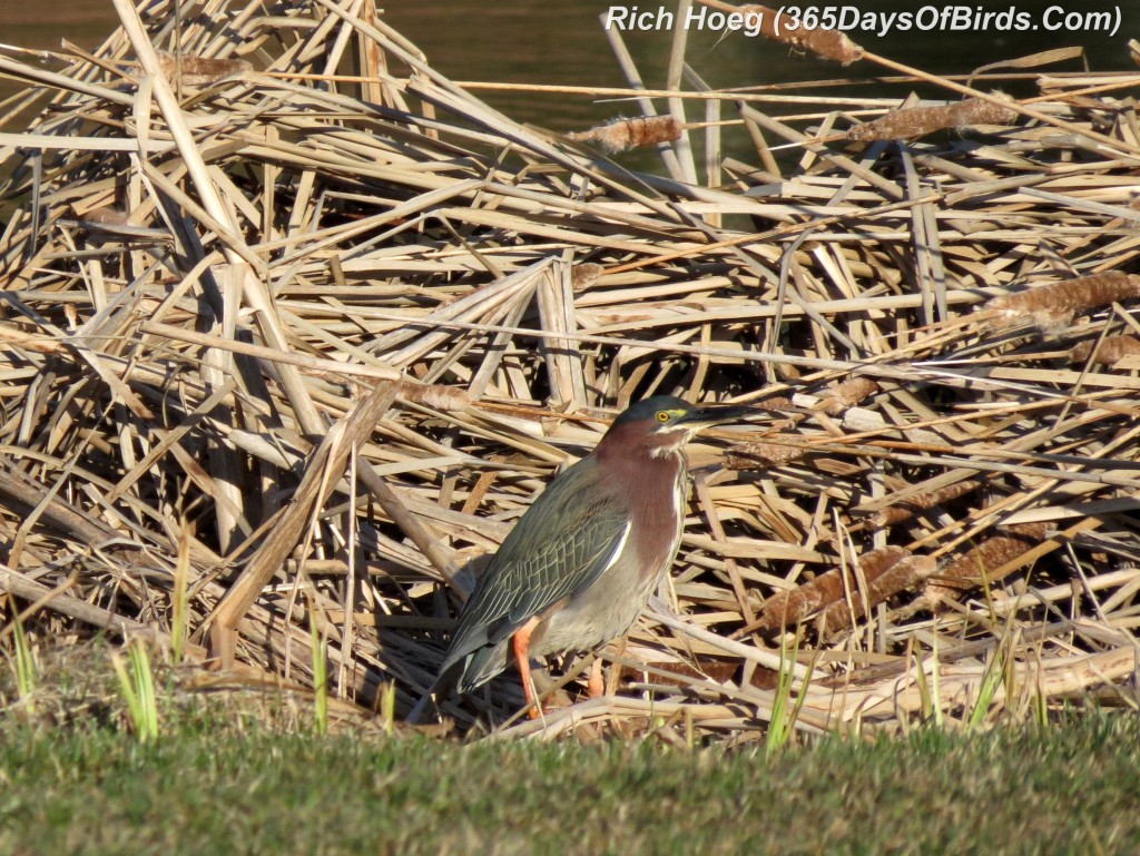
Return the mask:
M 316 627 L 339 698 L 406 711 L 466 565 L 670 392 L 772 415 L 692 449 L 669 597 L 606 652 L 620 696 L 500 733 L 747 736 L 788 716 L 782 662 L 805 728 L 1126 696 L 1140 139 L 1114 92 L 1140 74 L 1015 100 L 842 42 L 899 99 L 777 119 L 682 92 L 678 41 L 641 101 L 667 115 L 567 140 L 372 0 L 116 7 L 95 55 L 0 57 L 31 84 L 0 133 L 0 588 L 39 639 L 186 633 L 309 684 Z M 896 109 L 918 82 L 946 100 Z M 602 154 L 637 142 L 661 176 Z

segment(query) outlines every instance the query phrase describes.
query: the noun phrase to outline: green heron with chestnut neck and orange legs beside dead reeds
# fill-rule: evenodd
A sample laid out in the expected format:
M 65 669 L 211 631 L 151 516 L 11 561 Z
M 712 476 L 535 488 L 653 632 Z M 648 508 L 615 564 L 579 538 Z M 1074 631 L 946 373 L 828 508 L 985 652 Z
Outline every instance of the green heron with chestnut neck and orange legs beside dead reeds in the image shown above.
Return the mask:
M 514 659 L 531 716 L 530 658 L 589 651 L 622 636 L 668 572 L 687 494 L 685 443 L 755 413 L 654 396 L 618 416 L 593 453 L 561 473 L 507 535 L 467 600 L 435 690 L 466 693 Z M 591 695 L 602 692 L 601 671 Z

